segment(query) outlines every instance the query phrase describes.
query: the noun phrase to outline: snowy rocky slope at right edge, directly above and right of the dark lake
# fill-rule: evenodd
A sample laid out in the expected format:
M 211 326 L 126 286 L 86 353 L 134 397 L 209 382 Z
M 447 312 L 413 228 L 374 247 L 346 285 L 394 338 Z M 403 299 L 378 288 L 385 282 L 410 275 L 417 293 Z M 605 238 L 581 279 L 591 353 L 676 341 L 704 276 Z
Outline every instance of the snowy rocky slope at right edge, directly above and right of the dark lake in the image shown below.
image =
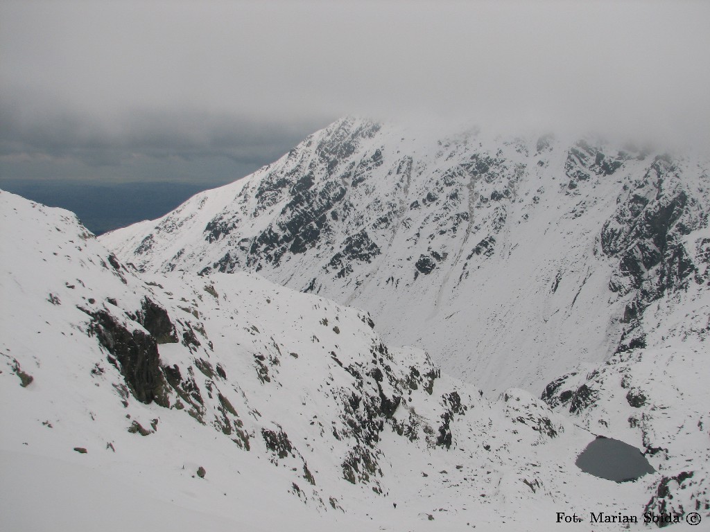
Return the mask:
M 643 448 L 660 473 L 647 509 L 710 514 L 710 291 L 691 286 L 650 306 L 645 348 L 555 379 L 543 399 L 593 433 Z

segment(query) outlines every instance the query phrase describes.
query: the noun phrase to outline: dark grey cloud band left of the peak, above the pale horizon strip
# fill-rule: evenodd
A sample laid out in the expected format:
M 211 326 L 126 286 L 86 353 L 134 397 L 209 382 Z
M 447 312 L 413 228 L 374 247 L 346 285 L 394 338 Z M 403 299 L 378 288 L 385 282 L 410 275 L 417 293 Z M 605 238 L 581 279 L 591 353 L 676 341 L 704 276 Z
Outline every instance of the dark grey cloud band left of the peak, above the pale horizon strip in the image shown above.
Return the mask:
M 29 109 L 30 111 L 26 111 Z M 105 121 L 77 109 L 32 101 L 0 102 L 0 156 L 25 153 L 53 157 L 111 153 L 151 157 L 228 157 L 261 162 L 277 157 L 323 121 L 258 121 L 249 116 L 215 116 L 195 111 L 129 110 Z

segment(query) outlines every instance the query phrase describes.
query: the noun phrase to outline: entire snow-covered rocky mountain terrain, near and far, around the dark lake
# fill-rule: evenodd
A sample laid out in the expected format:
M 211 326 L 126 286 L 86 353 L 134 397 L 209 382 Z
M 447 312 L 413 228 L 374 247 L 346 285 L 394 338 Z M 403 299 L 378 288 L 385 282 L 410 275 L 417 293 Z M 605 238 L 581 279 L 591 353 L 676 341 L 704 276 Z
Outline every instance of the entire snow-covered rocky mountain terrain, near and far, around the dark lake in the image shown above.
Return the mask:
M 710 520 L 709 186 L 601 141 L 348 118 L 98 241 L 0 192 L 4 522 Z M 581 472 L 596 435 L 655 473 Z

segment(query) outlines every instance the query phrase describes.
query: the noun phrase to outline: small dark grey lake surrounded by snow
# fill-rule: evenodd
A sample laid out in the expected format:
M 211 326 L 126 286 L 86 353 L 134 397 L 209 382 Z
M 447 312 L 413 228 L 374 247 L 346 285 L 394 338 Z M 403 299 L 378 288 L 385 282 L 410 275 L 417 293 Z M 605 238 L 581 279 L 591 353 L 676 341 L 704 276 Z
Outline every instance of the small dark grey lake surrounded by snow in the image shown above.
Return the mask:
M 628 482 L 655 473 L 638 448 L 603 436 L 589 443 L 574 463 L 590 475 L 614 482 Z

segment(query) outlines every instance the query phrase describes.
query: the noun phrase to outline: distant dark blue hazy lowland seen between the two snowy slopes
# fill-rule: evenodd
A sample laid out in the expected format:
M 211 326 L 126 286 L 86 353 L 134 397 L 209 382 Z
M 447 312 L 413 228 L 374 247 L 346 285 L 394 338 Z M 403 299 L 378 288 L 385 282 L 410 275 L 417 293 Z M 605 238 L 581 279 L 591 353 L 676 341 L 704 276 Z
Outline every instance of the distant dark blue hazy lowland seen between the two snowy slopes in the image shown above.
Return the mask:
M 0 189 L 75 212 L 96 235 L 163 216 L 207 188 L 210 186 L 166 182 L 86 184 L 0 179 Z

